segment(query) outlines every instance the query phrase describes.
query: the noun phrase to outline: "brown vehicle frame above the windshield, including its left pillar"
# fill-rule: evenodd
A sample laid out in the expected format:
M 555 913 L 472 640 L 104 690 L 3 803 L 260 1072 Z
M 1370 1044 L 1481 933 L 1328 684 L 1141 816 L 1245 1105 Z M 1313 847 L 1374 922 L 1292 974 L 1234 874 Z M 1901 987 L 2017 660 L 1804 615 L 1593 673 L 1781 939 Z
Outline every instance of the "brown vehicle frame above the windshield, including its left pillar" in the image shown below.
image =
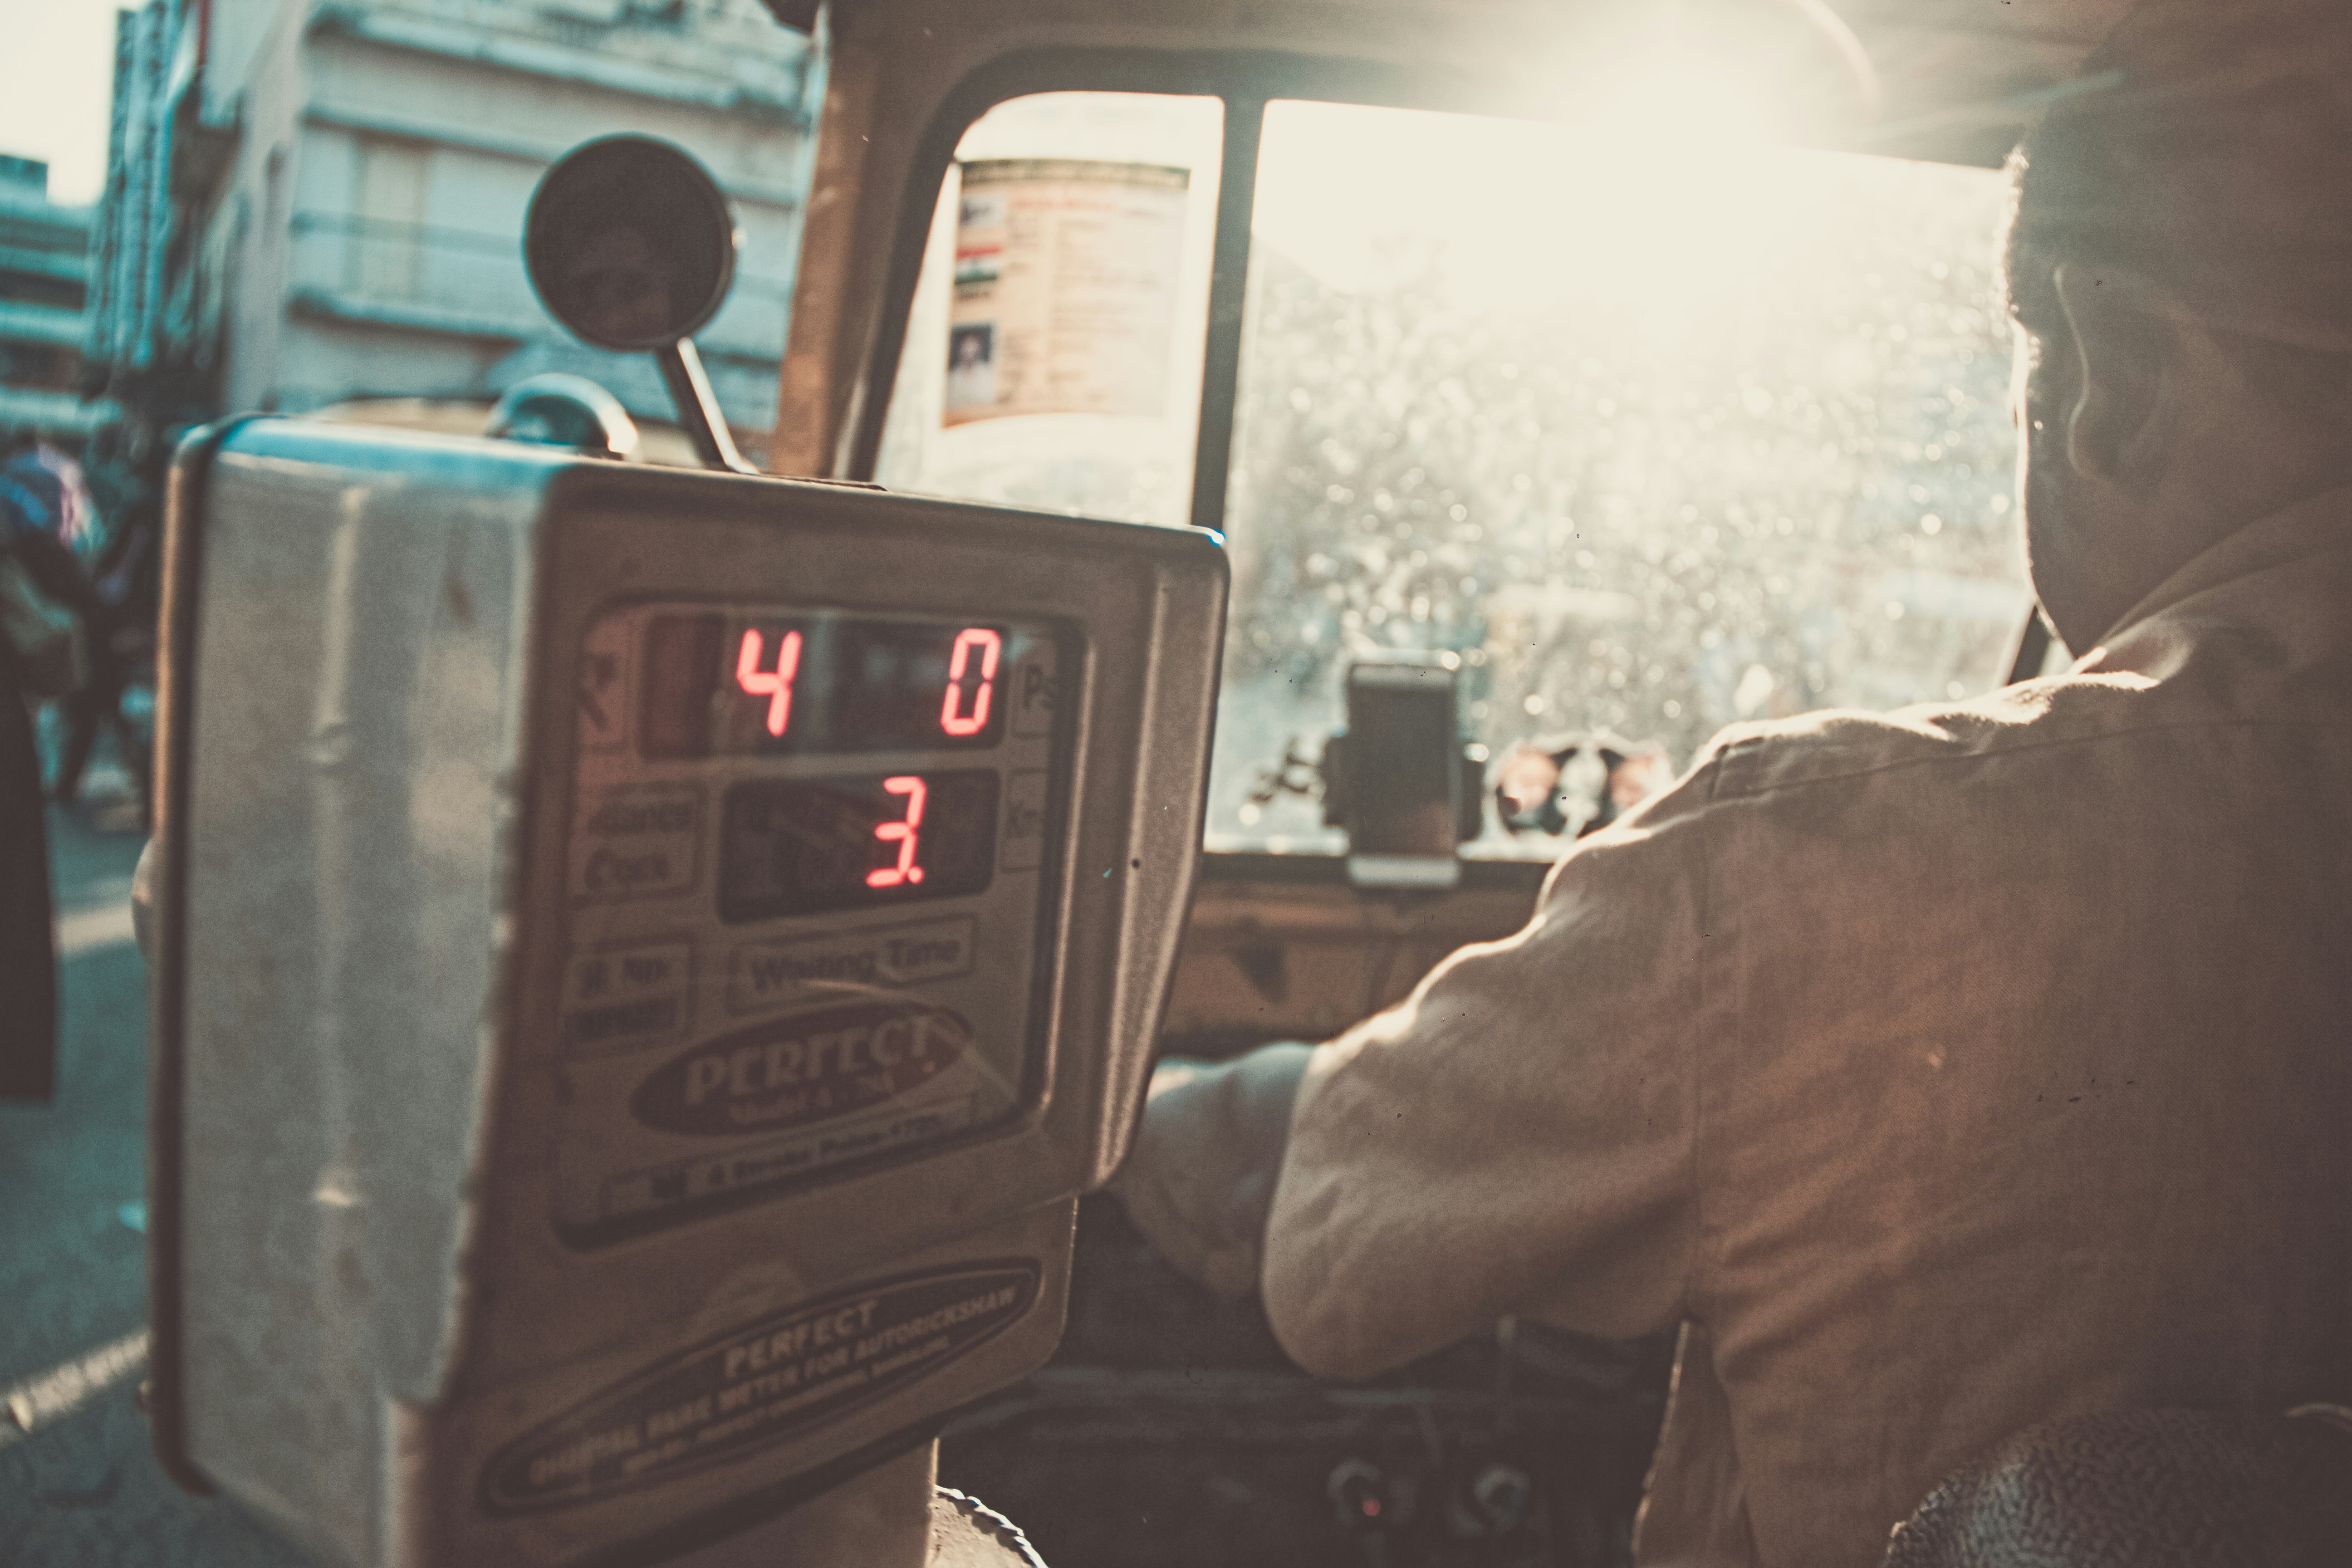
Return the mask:
M 818 0 L 767 0 L 814 28 Z M 1576 120 L 1668 28 L 1766 80 L 1802 146 L 1999 165 L 2131 0 L 830 0 L 769 463 L 868 477 L 938 174 L 1028 92 L 1338 99 Z M 1207 449 L 1204 449 L 1207 451 Z

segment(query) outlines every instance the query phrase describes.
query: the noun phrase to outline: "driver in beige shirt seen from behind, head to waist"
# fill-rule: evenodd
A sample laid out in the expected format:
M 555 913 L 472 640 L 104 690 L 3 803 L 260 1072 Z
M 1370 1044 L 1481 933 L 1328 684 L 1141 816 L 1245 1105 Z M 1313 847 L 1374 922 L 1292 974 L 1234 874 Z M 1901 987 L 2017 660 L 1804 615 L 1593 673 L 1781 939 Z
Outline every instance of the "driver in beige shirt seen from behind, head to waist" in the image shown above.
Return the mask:
M 2011 160 L 2082 658 L 1724 731 L 1517 936 L 1164 1065 L 1131 1215 L 1378 1373 L 1679 1328 L 1642 1563 L 1863 1568 L 2049 1418 L 2352 1399 L 2352 7 L 2154 0 Z

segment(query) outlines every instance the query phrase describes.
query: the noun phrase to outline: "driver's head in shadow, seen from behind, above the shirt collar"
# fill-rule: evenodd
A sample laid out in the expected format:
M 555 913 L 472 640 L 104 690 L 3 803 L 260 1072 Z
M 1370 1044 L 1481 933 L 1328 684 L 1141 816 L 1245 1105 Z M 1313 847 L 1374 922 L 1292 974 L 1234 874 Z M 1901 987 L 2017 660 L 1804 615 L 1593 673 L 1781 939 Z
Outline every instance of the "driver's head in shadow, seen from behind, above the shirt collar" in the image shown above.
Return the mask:
M 2145 0 L 2011 179 L 2027 548 L 2086 649 L 2352 482 L 2352 5 Z

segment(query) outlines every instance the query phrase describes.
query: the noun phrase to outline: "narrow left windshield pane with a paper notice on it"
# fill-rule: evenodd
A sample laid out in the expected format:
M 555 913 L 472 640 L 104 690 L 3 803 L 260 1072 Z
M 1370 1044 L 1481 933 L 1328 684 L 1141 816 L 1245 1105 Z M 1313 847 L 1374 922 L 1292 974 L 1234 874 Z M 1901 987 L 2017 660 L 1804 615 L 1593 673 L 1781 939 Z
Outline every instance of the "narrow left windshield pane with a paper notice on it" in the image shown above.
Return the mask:
M 1185 522 L 1223 101 L 1051 92 L 964 132 L 875 477 Z

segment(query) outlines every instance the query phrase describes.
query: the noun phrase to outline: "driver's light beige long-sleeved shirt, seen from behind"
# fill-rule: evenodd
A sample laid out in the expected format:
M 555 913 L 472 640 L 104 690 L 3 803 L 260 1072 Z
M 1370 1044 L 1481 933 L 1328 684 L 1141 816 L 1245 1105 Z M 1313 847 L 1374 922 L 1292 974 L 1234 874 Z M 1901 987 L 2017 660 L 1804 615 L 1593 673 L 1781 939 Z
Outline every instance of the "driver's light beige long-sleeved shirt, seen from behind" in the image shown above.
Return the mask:
M 2347 1004 L 2336 494 L 2063 677 L 1731 729 L 1583 839 L 1310 1060 L 1268 1314 L 1334 1375 L 1682 1324 L 1639 1561 L 1863 1568 L 2030 1422 L 2352 1399 Z

